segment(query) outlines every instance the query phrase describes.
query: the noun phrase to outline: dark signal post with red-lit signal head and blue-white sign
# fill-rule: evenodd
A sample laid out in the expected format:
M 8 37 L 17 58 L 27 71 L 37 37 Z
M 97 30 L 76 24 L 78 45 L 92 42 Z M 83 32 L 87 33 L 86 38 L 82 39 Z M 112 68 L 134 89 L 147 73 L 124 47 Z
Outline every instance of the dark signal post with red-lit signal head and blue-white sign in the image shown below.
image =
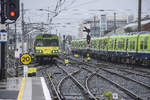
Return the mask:
M 9 19 L 16 21 L 19 17 L 19 0 L 1 0 L 1 26 L 5 27 L 5 20 Z M 0 30 L 0 35 L 3 39 L 0 39 L 1 43 L 1 61 L 0 61 L 0 81 L 6 79 L 6 43 L 7 43 L 7 31 L 5 28 Z

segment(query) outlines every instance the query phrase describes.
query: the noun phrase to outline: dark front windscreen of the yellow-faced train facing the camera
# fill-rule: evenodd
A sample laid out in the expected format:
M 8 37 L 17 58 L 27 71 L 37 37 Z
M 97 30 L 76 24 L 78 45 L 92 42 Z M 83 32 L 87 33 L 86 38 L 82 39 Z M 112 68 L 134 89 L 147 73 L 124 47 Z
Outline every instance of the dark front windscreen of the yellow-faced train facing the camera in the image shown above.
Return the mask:
M 59 46 L 57 39 L 38 39 L 35 42 L 35 46 L 43 47 L 43 46 Z

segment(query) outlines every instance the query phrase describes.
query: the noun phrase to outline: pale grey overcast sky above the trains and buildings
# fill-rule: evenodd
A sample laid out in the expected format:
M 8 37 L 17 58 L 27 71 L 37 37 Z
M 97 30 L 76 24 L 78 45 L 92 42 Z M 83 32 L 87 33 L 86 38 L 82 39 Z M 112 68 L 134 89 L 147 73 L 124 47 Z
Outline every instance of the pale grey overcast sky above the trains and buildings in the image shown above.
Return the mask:
M 27 9 L 25 13 L 26 22 L 44 22 L 48 23 L 48 13 L 46 11 L 39 11 L 38 9 L 54 10 L 58 0 L 21 0 L 24 3 L 24 8 Z M 63 0 L 62 0 L 63 1 Z M 142 0 L 143 16 L 150 14 L 150 0 Z M 79 24 L 94 15 L 130 15 L 137 16 L 138 0 L 66 0 L 61 7 L 63 10 L 58 16 L 53 19 L 56 23 L 56 28 L 61 34 L 78 34 Z M 100 12 L 98 9 L 113 10 Z M 50 14 L 50 17 L 53 13 Z M 60 24 L 59 24 L 60 23 Z M 67 24 L 71 23 L 71 24 Z M 60 27 L 58 27 L 60 26 Z

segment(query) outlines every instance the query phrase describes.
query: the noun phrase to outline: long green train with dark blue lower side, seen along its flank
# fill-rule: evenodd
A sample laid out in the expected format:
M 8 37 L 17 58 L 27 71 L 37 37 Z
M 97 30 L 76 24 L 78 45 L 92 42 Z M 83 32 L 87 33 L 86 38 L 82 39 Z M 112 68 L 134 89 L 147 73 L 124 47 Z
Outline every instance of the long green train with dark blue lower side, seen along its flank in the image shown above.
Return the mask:
M 110 62 L 150 65 L 150 32 L 92 38 L 89 45 L 85 39 L 73 40 L 71 50 Z

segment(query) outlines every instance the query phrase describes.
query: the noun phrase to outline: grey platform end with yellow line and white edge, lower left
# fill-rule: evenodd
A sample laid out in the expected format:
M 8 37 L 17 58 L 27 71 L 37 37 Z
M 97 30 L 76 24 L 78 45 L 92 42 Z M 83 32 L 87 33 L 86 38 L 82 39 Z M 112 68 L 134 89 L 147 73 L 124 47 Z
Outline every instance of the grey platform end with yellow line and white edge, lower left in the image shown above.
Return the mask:
M 9 78 L 0 82 L 0 100 L 52 100 L 43 77 Z

